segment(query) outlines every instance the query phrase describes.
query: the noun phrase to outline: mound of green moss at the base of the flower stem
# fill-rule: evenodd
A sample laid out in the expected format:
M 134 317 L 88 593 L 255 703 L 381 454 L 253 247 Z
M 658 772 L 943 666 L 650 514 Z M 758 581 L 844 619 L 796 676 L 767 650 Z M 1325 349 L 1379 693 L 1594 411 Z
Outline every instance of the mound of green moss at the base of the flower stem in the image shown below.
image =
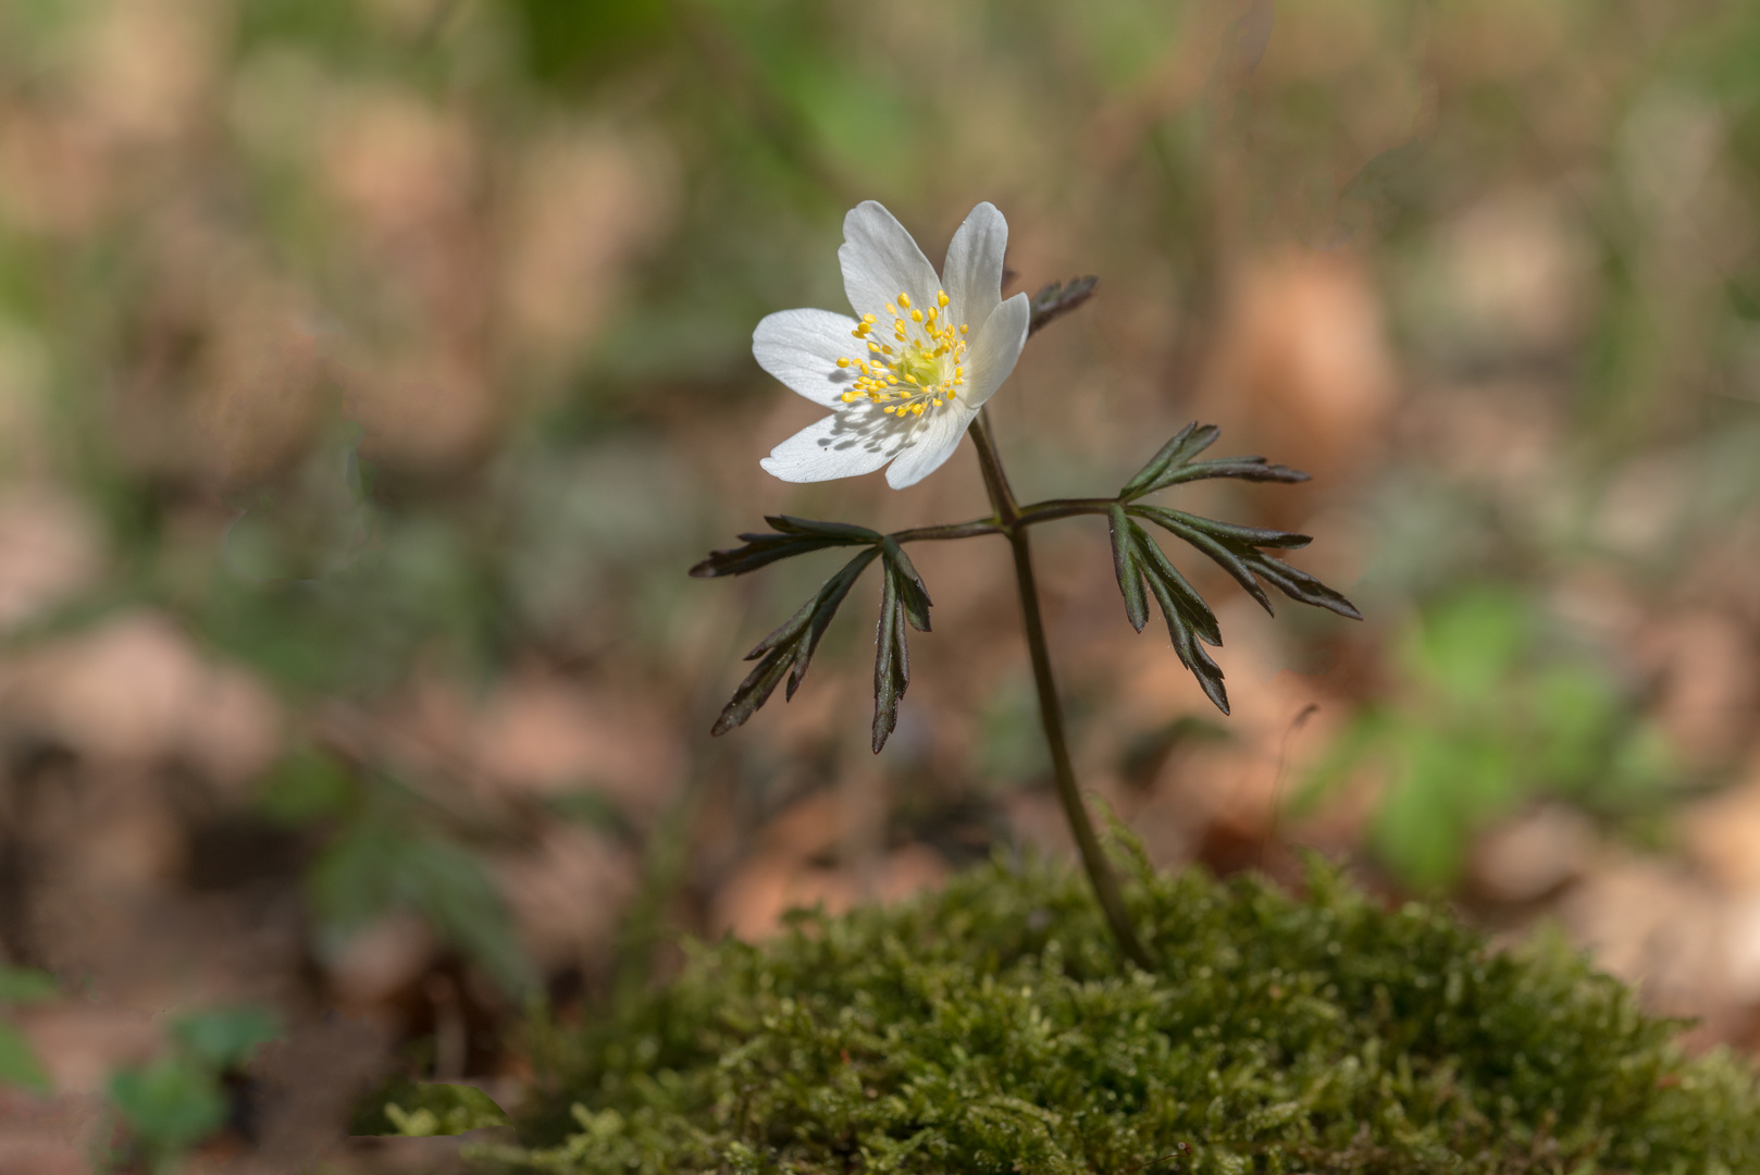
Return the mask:
M 1760 1170 L 1727 1057 L 1561 948 L 1500 955 L 1325 868 L 1292 898 L 1140 870 L 1165 962 L 1121 967 L 1082 881 L 991 865 L 892 909 L 697 946 L 607 1024 L 535 1034 L 553 1171 Z

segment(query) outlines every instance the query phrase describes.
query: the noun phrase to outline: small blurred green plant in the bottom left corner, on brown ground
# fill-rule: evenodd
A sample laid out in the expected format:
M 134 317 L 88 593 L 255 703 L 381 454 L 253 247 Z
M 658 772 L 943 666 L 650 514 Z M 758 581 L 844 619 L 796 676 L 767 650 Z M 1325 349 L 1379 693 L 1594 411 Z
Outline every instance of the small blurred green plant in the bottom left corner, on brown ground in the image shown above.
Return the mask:
M 165 1053 L 116 1071 L 109 1101 L 141 1157 L 155 1171 L 174 1170 L 183 1154 L 224 1127 L 231 1113 L 225 1076 L 280 1034 L 280 1020 L 262 1008 L 197 1011 L 172 1022 Z

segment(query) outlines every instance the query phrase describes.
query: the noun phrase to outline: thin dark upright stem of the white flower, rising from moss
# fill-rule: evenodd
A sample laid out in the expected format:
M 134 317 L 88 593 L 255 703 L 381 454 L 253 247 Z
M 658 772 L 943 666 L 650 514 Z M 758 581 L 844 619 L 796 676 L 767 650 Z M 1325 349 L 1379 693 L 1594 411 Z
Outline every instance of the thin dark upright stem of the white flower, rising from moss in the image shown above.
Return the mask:
M 1081 787 L 1075 784 L 1075 766 L 1070 763 L 1070 745 L 1063 733 L 1063 706 L 1058 701 L 1058 684 L 1051 676 L 1051 650 L 1045 645 L 1045 622 L 1038 608 L 1038 585 L 1033 580 L 1033 553 L 1028 546 L 1026 520 L 1014 491 L 1008 488 L 1008 476 L 1001 469 L 1001 456 L 996 453 L 996 440 L 991 435 L 989 410 L 979 410 L 972 421 L 972 440 L 979 449 L 979 467 L 984 470 L 984 488 L 989 491 L 991 506 L 996 509 L 996 527 L 1008 536 L 1014 551 L 1014 578 L 1021 588 L 1021 622 L 1026 627 L 1026 648 L 1033 661 L 1033 684 L 1038 687 L 1038 722 L 1045 731 L 1051 747 L 1051 770 L 1058 780 L 1058 798 L 1063 802 L 1063 816 L 1075 833 L 1075 846 L 1082 854 L 1082 867 L 1088 881 L 1095 888 L 1100 909 L 1112 927 L 1112 937 L 1130 962 L 1144 971 L 1153 971 L 1149 953 L 1137 941 L 1137 930 L 1130 925 L 1125 911 L 1125 898 L 1118 888 L 1118 877 L 1105 860 L 1100 839 L 1095 835 L 1093 821 L 1088 819 L 1088 807 L 1082 803 Z M 1086 509 L 1072 513 L 1089 513 Z

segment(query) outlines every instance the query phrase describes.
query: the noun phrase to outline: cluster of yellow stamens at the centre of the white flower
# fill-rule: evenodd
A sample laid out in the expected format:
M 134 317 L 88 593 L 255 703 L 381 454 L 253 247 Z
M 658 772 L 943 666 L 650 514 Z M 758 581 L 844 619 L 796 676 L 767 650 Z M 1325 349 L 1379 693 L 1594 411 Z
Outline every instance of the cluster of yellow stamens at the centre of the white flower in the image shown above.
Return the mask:
M 857 372 L 843 402 L 869 400 L 887 414 L 922 416 L 957 396 L 966 382 L 968 326 L 956 328 L 942 319 L 943 310 L 947 292 L 935 291 L 935 305 L 928 310 L 912 307 L 910 294 L 899 294 L 898 305 L 889 301 L 891 329 L 864 314 L 850 333 L 868 344 L 868 354 L 838 359 L 838 366 Z

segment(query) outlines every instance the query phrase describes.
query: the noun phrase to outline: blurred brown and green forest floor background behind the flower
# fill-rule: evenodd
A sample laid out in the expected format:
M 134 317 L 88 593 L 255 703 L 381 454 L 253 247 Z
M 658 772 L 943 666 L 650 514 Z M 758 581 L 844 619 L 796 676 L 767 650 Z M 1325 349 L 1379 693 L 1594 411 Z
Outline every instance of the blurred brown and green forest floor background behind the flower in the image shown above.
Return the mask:
M 970 446 L 759 470 L 820 410 L 752 328 L 845 308 L 861 199 L 1100 275 L 993 403 L 1023 499 L 1190 419 L 1315 474 L 1179 491 L 1368 617 L 1169 546 L 1228 719 L 1104 527 L 1035 532 L 1079 773 L 1158 863 L 1316 847 L 1760 1050 L 1755 5 L 0 0 L 0 1171 L 377 1163 L 354 1094 L 512 1097 L 530 1001 L 681 930 L 1068 853 L 998 541 L 913 548 L 882 756 L 875 580 L 708 736 L 838 564 L 702 553 L 986 513 Z M 216 1016 L 280 1036 L 250 1076 Z

